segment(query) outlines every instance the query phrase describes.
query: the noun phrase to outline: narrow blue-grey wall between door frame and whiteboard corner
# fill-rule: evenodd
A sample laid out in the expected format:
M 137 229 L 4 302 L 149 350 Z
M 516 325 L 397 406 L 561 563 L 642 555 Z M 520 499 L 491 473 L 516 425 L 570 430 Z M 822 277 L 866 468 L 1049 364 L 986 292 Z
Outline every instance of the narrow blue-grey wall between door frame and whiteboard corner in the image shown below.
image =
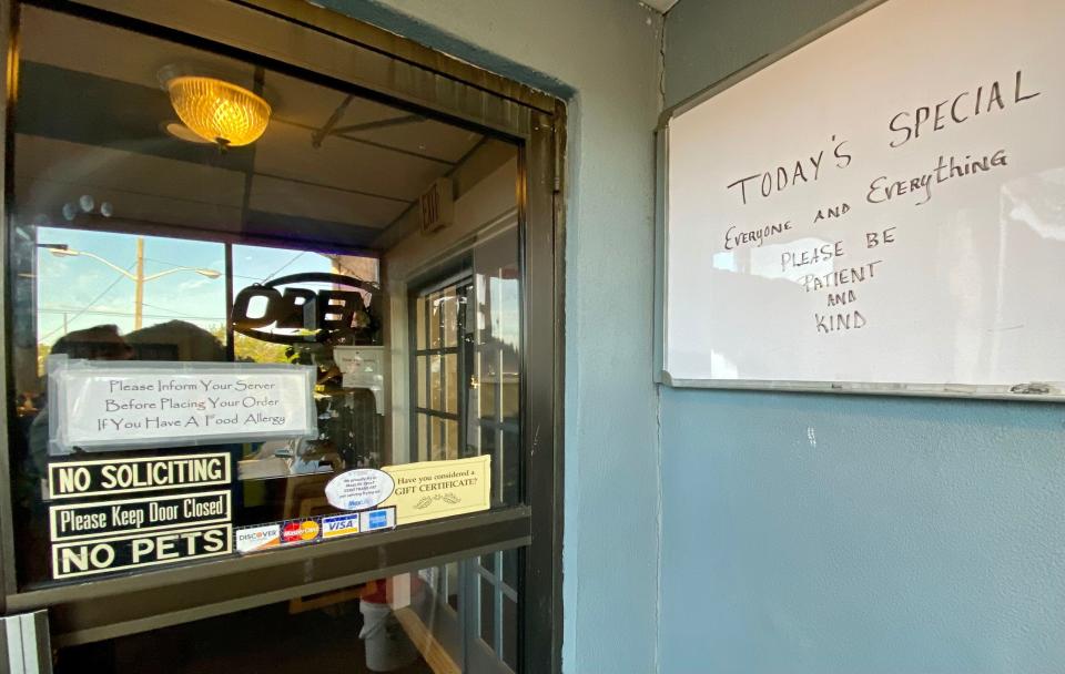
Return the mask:
M 569 102 L 564 670 L 652 672 L 661 16 L 630 0 L 320 1 Z

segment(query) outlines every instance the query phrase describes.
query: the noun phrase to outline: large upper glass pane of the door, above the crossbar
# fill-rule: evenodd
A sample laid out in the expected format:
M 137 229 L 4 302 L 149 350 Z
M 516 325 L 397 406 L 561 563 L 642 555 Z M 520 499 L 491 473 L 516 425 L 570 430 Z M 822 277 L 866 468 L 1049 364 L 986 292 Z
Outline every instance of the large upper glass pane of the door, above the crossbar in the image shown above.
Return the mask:
M 486 432 L 483 422 L 514 420 L 505 426 L 516 433 L 517 460 L 520 402 L 504 388 L 517 390 L 520 370 L 514 145 L 260 64 L 32 3 L 20 21 L 19 96 L 9 130 L 16 152 L 2 247 L 10 290 L 7 445 L 18 589 L 143 571 L 90 569 L 84 547 L 64 547 L 89 535 L 128 533 L 122 522 L 67 531 L 67 541 L 49 529 L 50 514 L 61 507 L 42 498 L 42 487 L 54 486 L 45 480 L 50 470 L 87 456 L 126 468 L 142 459 L 213 456 L 227 470 L 210 486 L 180 484 L 143 498 L 162 506 L 181 494 L 224 491 L 225 512 L 211 523 L 224 533 L 226 544 L 212 551 L 220 556 L 270 554 L 265 547 L 237 545 L 254 534 L 247 529 L 297 525 L 295 538 L 268 550 L 331 544 L 308 532 L 316 525 L 321 533 L 323 518 L 342 512 L 325 496 L 332 480 L 353 469 L 398 471 L 412 460 L 476 455 L 486 437 L 500 432 Z M 230 84 L 266 99 L 272 114 L 257 139 L 231 143 L 225 152 L 215 137 L 196 142 L 159 80 L 160 64 L 186 62 L 217 67 Z M 308 129 L 322 129 L 334 114 L 335 127 L 347 131 L 312 143 Z M 434 236 L 404 234 L 405 225 L 382 235 L 452 171 L 463 176 L 455 185 L 456 204 L 463 204 L 456 214 L 510 203 L 514 215 L 488 224 L 458 217 Z M 59 387 L 49 385 L 47 368 L 62 362 L 109 379 L 201 376 L 221 388 L 190 392 L 187 400 L 172 389 L 156 390 L 149 402 L 165 399 L 171 411 L 187 416 L 180 422 L 168 417 L 163 427 L 158 409 L 148 419 L 144 409 L 126 408 L 138 411 L 124 419 L 129 442 L 90 446 L 90 439 L 59 451 L 60 443 L 49 441 L 53 422 L 67 428 L 73 419 L 91 428 L 109 401 L 141 405 L 133 398 L 149 390 L 80 397 L 81 411 L 64 409 L 50 419 L 49 396 L 58 397 Z M 245 386 L 265 372 L 283 372 L 283 389 L 242 389 L 236 398 L 212 402 L 215 391 L 237 392 L 223 384 Z M 92 415 L 84 411 L 90 409 Z M 191 420 L 205 428 L 206 416 L 215 428 L 233 431 L 162 432 L 176 423 L 193 428 Z M 302 419 L 298 428 L 274 432 L 295 417 Z M 158 436 L 146 432 L 149 422 Z M 504 491 L 501 476 L 511 459 L 493 453 L 501 445 L 501 437 L 493 437 L 484 448 L 493 456 L 485 508 L 520 497 Z M 81 508 L 119 498 L 126 497 L 67 502 Z M 412 508 L 393 523 L 454 514 L 434 510 L 436 501 L 428 511 Z M 160 524 L 176 531 L 187 523 Z M 52 552 L 63 550 L 72 575 L 53 566 Z M 165 571 L 168 564 L 151 569 Z

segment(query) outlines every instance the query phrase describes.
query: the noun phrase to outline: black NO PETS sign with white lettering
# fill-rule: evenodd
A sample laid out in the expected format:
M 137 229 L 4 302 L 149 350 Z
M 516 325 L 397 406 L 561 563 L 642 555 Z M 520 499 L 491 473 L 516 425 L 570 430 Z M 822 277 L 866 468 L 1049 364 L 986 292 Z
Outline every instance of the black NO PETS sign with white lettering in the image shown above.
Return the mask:
M 230 554 L 233 525 L 212 524 L 55 543 L 52 578 L 64 580 Z

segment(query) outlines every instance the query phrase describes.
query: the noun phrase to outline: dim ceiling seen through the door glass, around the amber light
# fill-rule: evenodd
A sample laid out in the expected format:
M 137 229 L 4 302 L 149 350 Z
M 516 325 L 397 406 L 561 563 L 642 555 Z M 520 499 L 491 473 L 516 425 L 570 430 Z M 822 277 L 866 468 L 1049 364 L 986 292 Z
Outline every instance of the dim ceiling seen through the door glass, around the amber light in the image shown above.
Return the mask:
M 23 219 L 60 223 L 63 205 L 88 194 L 110 202 L 114 221 L 316 228 L 367 245 L 483 141 L 268 70 L 256 84 L 250 64 L 48 10 L 27 8 L 22 40 L 14 173 Z M 261 90 L 273 108 L 266 132 L 224 154 L 168 134 L 176 115 L 159 83 L 164 67 Z

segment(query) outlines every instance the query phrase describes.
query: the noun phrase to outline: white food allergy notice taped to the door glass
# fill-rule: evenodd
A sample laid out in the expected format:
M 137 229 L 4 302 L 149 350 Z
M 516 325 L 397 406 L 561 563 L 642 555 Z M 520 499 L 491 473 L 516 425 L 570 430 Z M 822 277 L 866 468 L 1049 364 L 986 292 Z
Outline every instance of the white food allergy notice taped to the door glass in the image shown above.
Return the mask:
M 315 437 L 314 368 L 49 358 L 52 455 Z

